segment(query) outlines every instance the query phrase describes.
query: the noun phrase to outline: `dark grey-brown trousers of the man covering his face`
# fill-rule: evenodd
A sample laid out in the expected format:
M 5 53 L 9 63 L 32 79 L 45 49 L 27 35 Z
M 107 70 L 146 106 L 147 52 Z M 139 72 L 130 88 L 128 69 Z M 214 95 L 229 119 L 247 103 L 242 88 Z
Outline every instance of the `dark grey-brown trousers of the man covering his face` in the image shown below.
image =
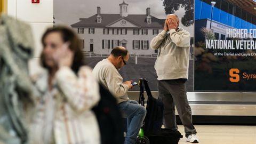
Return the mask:
M 183 79 L 170 79 L 158 81 L 159 98 L 164 103 L 164 126 L 167 129 L 178 130 L 175 118 L 175 108 L 179 113 L 185 127 L 186 137 L 196 134 L 192 123 L 191 108 L 187 99 L 187 90 Z

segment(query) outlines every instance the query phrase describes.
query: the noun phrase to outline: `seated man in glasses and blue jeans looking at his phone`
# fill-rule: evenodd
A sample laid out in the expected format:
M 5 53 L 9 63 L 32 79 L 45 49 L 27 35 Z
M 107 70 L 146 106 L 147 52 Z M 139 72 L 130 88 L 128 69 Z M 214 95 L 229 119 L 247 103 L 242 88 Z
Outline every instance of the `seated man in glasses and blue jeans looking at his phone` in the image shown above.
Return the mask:
M 117 46 L 107 59 L 98 62 L 93 69 L 94 76 L 116 97 L 121 113 L 127 118 L 125 144 L 135 143 L 146 116 L 145 107 L 137 101 L 129 100 L 127 96 L 127 91 L 132 88 L 132 81 L 123 83 L 123 78 L 118 73 L 118 70 L 126 65 L 129 57 L 129 52 L 124 47 Z

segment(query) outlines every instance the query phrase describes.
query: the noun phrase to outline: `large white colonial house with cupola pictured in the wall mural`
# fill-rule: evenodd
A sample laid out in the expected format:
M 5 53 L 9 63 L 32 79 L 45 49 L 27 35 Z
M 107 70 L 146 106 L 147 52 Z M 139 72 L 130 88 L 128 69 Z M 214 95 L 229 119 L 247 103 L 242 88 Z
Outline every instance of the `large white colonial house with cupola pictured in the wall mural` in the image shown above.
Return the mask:
M 97 7 L 97 14 L 80 18 L 71 25 L 81 38 L 85 52 L 109 54 L 118 45 L 126 47 L 130 54 L 151 55 L 150 41 L 163 30 L 164 20 L 146 14 L 128 14 L 128 4 L 119 4 L 119 14 L 103 14 Z

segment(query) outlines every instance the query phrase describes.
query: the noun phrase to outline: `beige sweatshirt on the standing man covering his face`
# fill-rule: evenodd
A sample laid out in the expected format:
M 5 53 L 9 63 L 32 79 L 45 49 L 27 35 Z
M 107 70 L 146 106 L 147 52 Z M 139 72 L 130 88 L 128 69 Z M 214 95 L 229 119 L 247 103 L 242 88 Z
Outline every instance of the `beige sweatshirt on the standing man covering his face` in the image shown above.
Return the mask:
M 158 51 L 155 62 L 158 80 L 188 78 L 190 34 L 179 28 L 169 33 L 163 30 L 150 42 L 153 50 Z

